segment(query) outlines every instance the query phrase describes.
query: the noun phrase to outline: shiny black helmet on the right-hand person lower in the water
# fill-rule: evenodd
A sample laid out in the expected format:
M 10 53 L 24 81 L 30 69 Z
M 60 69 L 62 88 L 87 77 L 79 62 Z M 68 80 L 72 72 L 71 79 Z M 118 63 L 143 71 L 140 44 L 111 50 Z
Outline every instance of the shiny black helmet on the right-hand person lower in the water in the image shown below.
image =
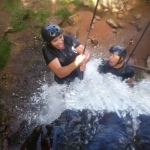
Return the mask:
M 113 53 L 115 55 L 118 55 L 120 57 L 123 57 L 123 58 L 125 58 L 127 55 L 126 49 L 124 47 L 121 47 L 121 46 L 113 46 L 110 48 L 109 52 Z

